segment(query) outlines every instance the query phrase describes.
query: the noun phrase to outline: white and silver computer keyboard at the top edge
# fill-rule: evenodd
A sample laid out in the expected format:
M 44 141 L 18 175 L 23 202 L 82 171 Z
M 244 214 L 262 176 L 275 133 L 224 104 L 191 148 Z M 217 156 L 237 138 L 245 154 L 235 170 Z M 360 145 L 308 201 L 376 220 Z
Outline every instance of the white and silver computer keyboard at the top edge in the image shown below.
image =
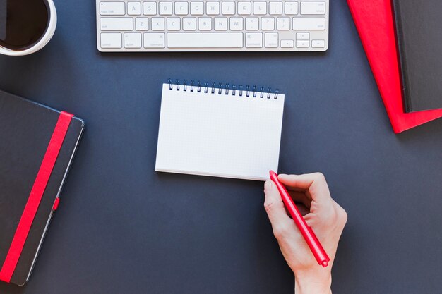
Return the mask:
M 328 49 L 329 0 L 96 1 L 102 52 Z

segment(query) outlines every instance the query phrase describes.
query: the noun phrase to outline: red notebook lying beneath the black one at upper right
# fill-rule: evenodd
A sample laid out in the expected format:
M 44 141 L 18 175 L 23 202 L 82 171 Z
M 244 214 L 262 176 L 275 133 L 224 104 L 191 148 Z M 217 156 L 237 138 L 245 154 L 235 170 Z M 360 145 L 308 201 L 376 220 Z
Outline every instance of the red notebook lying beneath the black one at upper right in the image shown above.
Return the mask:
M 347 0 L 395 133 L 442 117 L 442 109 L 404 112 L 391 0 Z

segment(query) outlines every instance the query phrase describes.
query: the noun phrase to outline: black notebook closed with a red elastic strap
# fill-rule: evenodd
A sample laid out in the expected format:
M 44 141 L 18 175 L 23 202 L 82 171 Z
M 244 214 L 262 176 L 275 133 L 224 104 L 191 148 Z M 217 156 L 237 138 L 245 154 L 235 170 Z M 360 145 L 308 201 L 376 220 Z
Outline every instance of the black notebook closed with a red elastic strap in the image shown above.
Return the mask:
M 71 114 L 0 91 L 1 281 L 28 281 L 83 128 Z

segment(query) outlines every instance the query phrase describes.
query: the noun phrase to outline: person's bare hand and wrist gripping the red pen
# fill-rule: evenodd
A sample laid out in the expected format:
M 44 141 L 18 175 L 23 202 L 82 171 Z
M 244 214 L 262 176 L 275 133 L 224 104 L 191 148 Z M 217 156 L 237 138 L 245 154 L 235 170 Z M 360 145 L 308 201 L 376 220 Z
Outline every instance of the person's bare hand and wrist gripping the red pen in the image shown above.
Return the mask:
M 275 183 L 267 180 L 264 185 L 264 207 L 282 255 L 294 273 L 295 293 L 331 293 L 331 269 L 340 235 L 347 222 L 347 213 L 330 196 L 322 173 L 281 174 L 278 179 L 287 187 L 294 202 L 298 203 L 307 225 L 315 232 L 330 257 L 328 267 L 323 268 L 316 262 L 309 245 L 287 214 Z

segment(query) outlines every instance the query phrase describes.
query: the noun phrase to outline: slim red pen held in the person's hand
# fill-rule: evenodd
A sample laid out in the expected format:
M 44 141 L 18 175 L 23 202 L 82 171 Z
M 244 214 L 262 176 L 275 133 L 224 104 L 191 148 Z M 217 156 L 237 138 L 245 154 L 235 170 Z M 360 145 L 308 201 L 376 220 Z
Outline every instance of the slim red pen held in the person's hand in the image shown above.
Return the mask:
M 274 171 L 270 171 L 270 180 L 273 180 L 277 190 L 280 191 L 282 202 L 284 202 L 284 205 L 292 216 L 294 223 L 296 223 L 299 231 L 301 231 L 302 236 L 306 240 L 307 245 L 309 245 L 311 252 L 316 258 L 316 261 L 323 267 L 327 267 L 328 262 L 330 262 L 330 257 L 328 257 L 327 252 L 325 252 L 321 243 L 319 243 L 319 240 L 316 238 L 313 230 L 307 225 L 304 217 L 301 216 L 301 213 L 294 204 L 292 197 L 290 197 L 285 186 L 282 185 L 280 180 L 277 179 L 277 174 Z

